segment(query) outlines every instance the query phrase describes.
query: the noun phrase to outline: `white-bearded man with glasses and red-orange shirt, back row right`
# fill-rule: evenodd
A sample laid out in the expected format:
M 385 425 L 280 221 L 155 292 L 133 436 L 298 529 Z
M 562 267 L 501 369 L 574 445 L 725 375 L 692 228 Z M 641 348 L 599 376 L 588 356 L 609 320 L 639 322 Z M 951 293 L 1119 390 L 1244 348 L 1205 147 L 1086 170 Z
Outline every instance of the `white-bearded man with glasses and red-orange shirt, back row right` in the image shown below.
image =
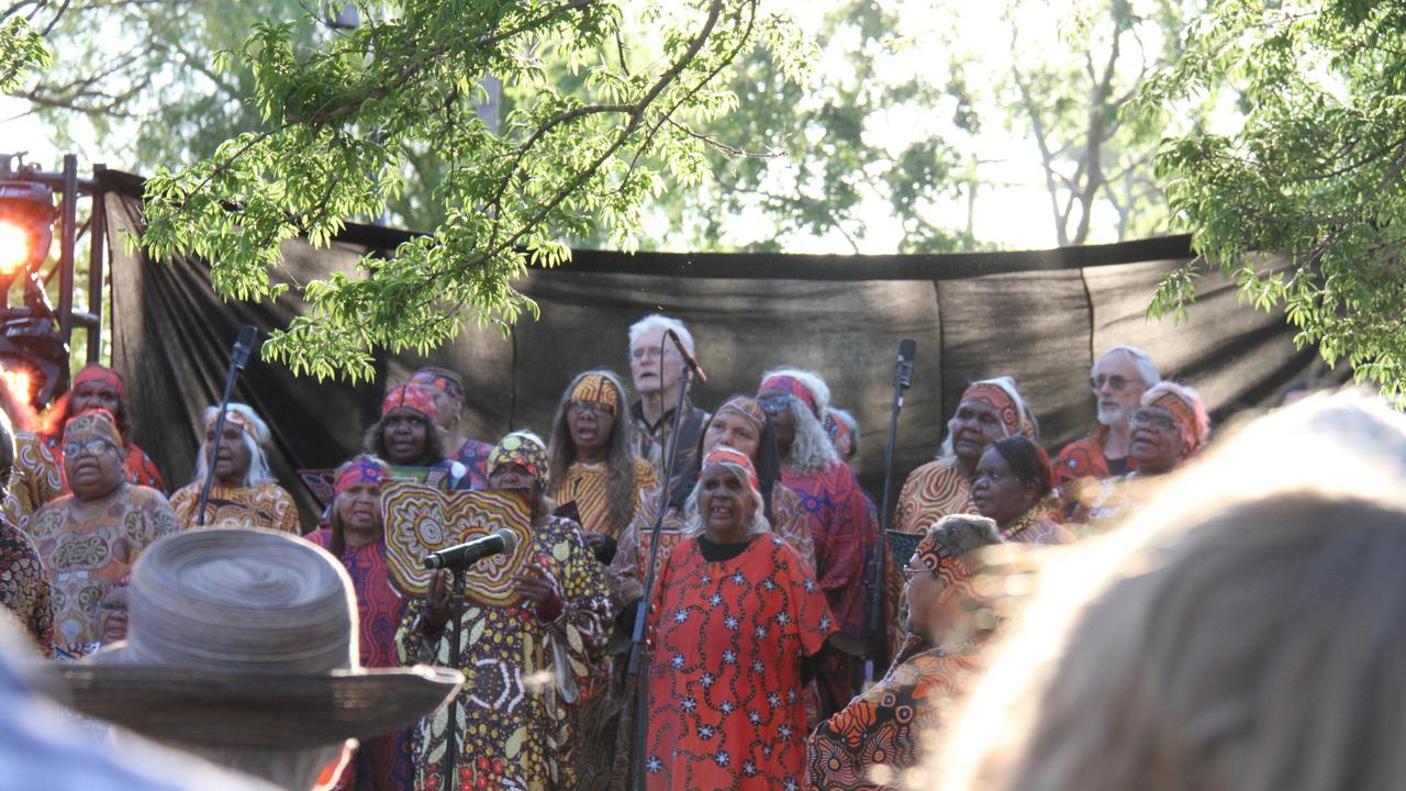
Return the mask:
M 1098 431 L 1070 442 L 1054 459 L 1054 486 L 1080 479 L 1107 479 L 1136 469 L 1128 456 L 1132 432 L 1128 417 L 1142 404 L 1143 393 L 1161 381 L 1147 352 L 1114 346 L 1090 370 L 1090 387 L 1098 398 Z

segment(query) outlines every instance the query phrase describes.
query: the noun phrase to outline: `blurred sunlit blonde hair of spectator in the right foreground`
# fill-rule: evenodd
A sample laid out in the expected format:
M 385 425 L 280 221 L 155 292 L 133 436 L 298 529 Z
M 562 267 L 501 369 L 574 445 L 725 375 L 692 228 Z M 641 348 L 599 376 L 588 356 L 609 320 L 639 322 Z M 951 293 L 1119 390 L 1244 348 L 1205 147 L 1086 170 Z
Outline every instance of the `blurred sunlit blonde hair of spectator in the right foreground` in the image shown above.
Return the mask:
M 1406 784 L 1406 419 L 1317 398 L 1223 445 L 1047 571 L 942 788 Z

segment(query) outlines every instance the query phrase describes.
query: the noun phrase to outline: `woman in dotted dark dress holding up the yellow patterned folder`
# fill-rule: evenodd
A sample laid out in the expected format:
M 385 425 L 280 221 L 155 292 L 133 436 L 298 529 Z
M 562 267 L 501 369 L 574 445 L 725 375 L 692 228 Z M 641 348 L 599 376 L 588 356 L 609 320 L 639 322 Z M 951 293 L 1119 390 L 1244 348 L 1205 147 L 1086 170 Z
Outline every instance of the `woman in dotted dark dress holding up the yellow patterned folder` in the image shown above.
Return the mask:
M 415 788 L 437 788 L 457 750 L 454 788 L 578 788 L 578 711 L 599 671 L 610 625 L 605 570 L 581 528 L 551 512 L 547 450 L 513 432 L 488 459 L 491 488 L 526 490 L 533 536 L 509 605 L 463 602 L 458 635 L 464 691 L 413 735 Z M 402 657 L 447 666 L 450 576 L 436 571 L 412 601 L 396 640 Z M 457 742 L 449 743 L 450 716 Z

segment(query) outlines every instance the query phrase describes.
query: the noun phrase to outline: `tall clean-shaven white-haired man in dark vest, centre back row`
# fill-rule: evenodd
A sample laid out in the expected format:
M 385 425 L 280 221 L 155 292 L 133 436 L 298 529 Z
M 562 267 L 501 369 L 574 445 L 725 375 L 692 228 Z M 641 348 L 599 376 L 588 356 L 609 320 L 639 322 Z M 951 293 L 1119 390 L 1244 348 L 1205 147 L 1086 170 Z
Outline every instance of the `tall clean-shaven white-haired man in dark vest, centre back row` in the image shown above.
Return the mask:
M 648 460 L 659 480 L 664 480 L 666 452 L 671 445 L 676 448 L 669 502 L 673 508 L 682 510 L 683 501 L 693 490 L 693 479 L 697 477 L 699 439 L 711 415 L 695 407 L 685 393 L 679 415 L 679 438 L 671 443 L 673 411 L 679 408 L 685 366 L 673 341 L 666 338 L 671 329 L 689 353 L 697 356 L 693 335 L 676 318 L 650 314 L 630 327 L 630 377 L 634 380 L 636 393 L 640 394 L 640 400 L 630 407 L 630 419 L 634 421 L 634 455 Z

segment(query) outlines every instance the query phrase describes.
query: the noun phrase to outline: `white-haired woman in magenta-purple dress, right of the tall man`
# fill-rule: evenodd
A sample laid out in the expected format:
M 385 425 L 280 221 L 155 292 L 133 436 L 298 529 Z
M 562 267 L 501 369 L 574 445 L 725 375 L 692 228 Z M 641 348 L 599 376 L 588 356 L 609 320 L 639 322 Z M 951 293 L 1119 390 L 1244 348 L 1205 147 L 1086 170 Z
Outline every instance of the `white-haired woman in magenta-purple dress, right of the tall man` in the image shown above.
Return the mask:
M 815 580 L 835 614 L 839 636 L 817 677 L 820 715 L 853 697 L 855 664 L 865 654 L 865 570 L 879 539 L 877 514 L 825 431 L 830 387 L 815 373 L 778 369 L 756 391 L 776 429 L 782 483 L 800 495 L 815 546 Z

